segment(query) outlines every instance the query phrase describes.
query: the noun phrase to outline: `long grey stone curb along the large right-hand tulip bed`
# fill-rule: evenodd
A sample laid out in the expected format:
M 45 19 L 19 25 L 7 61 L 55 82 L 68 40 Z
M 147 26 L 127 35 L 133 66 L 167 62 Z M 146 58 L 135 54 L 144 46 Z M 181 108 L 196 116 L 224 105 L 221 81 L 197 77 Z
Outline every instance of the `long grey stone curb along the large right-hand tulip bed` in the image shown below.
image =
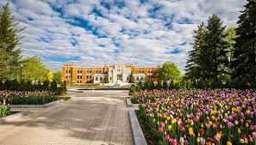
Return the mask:
M 132 127 L 134 145 L 147 145 L 146 139 L 140 128 L 140 123 L 138 121 L 138 118 L 134 110 L 129 110 L 128 113 L 129 113 L 130 123 Z

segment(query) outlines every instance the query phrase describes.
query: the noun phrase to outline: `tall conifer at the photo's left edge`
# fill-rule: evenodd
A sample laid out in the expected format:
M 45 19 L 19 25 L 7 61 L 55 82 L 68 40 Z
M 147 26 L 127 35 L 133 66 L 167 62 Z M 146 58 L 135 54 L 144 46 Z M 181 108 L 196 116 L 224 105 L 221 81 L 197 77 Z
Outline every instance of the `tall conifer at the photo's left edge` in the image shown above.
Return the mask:
M 16 75 L 16 67 L 19 64 L 21 59 L 21 50 L 17 49 L 16 46 L 20 45 L 20 33 L 24 30 L 25 27 L 17 29 L 19 22 L 16 22 L 13 15 L 9 10 L 9 3 L 6 3 L 3 6 L 2 12 L 0 13 L 0 41 L 2 46 L 2 51 L 5 50 L 8 57 L 7 59 L 7 70 L 9 78 L 14 78 Z M 1 54 L 2 55 L 2 54 Z M 2 68 L 3 69 L 3 68 Z

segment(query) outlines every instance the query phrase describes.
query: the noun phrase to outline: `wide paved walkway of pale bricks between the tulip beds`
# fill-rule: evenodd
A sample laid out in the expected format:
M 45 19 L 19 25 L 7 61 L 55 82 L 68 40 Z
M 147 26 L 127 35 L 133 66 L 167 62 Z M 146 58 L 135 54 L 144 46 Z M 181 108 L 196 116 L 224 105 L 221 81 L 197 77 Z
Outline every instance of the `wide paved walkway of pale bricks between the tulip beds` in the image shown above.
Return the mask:
M 72 100 L 0 124 L 1 145 L 132 145 L 126 91 L 69 93 Z

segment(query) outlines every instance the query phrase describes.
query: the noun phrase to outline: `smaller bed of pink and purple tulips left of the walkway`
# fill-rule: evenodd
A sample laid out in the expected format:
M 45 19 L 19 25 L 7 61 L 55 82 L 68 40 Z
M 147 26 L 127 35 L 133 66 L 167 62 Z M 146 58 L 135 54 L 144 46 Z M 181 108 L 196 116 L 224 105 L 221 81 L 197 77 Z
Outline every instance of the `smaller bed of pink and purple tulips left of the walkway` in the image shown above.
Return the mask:
M 58 100 L 51 92 L 0 91 L 0 102 L 8 105 L 45 105 Z

